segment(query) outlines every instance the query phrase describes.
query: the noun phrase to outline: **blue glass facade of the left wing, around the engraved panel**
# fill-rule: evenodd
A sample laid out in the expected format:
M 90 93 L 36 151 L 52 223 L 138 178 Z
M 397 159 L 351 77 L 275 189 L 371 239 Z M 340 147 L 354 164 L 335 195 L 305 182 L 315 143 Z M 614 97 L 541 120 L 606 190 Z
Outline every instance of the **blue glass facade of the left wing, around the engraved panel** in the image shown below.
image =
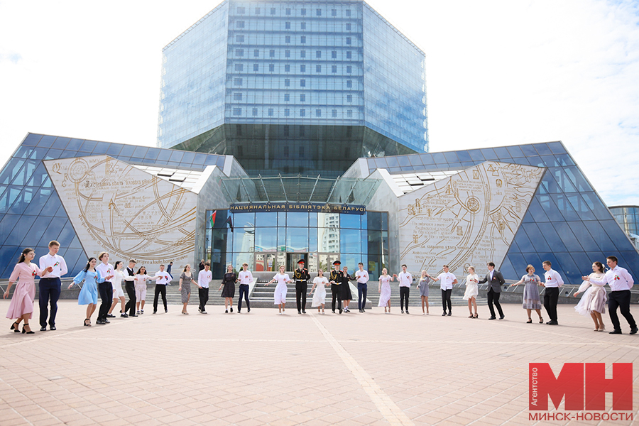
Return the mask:
M 224 157 L 184 151 L 62 138 L 29 133 L 0 171 L 0 278 L 9 278 L 25 247 L 37 258 L 60 241 L 69 275 L 87 263 L 87 255 L 53 188 L 42 160 L 107 154 L 133 164 L 204 170 L 224 167 Z M 69 276 L 67 275 L 67 276 Z

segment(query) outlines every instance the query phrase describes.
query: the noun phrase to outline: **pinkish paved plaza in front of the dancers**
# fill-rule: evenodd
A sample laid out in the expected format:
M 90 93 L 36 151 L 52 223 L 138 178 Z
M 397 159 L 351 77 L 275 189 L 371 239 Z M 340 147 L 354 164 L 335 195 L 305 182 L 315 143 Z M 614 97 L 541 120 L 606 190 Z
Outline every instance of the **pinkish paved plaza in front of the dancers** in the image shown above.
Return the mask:
M 593 332 L 589 318 L 559 305 L 559 327 L 525 324 L 520 305 L 506 319 L 410 315 L 240 315 L 115 318 L 82 327 L 84 307 L 61 301 L 58 330 L 0 332 L 0 425 L 630 425 L 633 421 L 529 419 L 528 363 L 638 365 L 639 334 Z M 9 301 L 0 302 L 4 316 Z M 639 317 L 636 305 L 631 308 Z M 36 316 L 38 308 L 36 307 Z M 95 320 L 95 315 L 93 317 Z M 547 320 L 547 318 L 545 318 Z M 608 315 L 606 328 L 611 329 Z M 551 405 L 552 407 L 552 405 Z M 563 408 L 563 403 L 560 406 Z M 611 395 L 606 396 L 611 411 Z M 561 410 L 559 410 L 561 411 Z M 626 412 L 630 414 L 631 412 Z

